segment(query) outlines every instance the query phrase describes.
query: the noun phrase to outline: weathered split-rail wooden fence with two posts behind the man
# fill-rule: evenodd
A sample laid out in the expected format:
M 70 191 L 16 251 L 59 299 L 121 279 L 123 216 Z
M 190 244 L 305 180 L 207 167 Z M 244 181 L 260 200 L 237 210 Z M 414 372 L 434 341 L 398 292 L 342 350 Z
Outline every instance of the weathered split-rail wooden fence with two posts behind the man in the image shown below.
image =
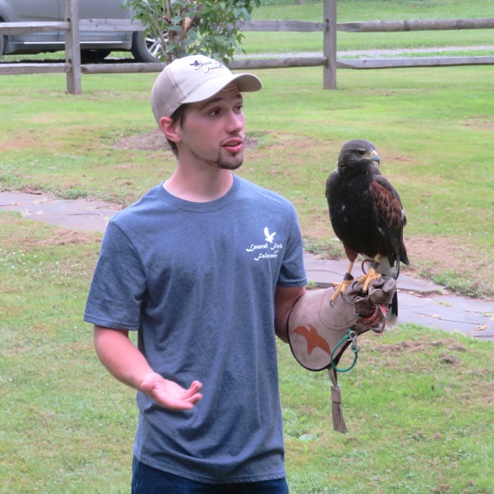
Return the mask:
M 54 23 L 0 23 L 0 35 L 13 33 L 66 32 L 65 64 L 0 64 L 1 74 L 66 73 L 67 92 L 79 95 L 81 74 L 159 72 L 164 64 L 80 64 L 79 31 L 141 31 L 138 21 L 87 19 L 79 20 L 78 0 L 65 0 L 65 20 Z M 403 32 L 417 30 L 493 29 L 494 18 L 457 20 L 390 20 L 337 23 L 337 0 L 324 0 L 323 22 L 301 20 L 253 20 L 241 25 L 243 31 L 322 32 L 323 52 L 318 56 L 277 56 L 270 59 L 239 59 L 229 64 L 231 69 L 263 69 L 289 67 L 323 67 L 323 88 L 336 88 L 337 68 L 396 68 L 456 65 L 490 65 L 494 56 L 421 57 L 397 59 L 366 59 L 337 61 L 337 31 L 344 32 Z M 74 29 L 73 26 L 78 26 Z

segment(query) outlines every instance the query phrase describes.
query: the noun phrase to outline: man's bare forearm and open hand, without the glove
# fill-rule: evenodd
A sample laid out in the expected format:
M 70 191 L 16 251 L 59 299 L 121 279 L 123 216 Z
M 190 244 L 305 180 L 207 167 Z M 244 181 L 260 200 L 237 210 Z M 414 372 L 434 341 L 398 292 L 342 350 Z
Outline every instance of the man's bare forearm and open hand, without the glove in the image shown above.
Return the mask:
M 128 338 L 128 331 L 95 325 L 95 349 L 100 362 L 114 378 L 151 397 L 171 410 L 188 410 L 203 397 L 203 385 L 194 381 L 188 390 L 162 378 Z

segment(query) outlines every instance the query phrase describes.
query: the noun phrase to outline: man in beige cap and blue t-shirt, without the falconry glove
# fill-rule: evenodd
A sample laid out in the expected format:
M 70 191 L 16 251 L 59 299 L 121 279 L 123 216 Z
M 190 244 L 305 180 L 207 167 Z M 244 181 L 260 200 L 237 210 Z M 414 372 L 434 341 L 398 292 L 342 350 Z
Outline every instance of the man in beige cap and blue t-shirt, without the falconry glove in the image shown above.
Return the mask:
M 138 391 L 134 494 L 288 493 L 275 335 L 305 292 L 301 234 L 286 199 L 232 173 L 241 93 L 261 87 L 205 56 L 164 68 L 152 109 L 176 169 L 102 242 L 84 319 Z

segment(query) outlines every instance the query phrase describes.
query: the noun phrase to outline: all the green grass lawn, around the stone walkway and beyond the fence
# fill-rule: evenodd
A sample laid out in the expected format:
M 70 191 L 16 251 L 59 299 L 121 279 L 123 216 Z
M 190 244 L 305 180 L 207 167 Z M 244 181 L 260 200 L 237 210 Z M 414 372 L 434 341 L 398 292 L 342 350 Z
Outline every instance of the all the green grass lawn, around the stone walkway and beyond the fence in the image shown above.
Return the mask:
M 377 18 L 377 8 L 390 19 L 490 17 L 493 5 L 338 4 L 342 21 Z M 255 16 L 293 18 L 297 9 L 319 20 L 320 8 L 265 5 Z M 457 33 L 440 34 L 449 44 Z M 375 46 L 399 46 L 402 35 L 413 37 Z M 431 46 L 416 36 L 411 46 Z M 476 36 L 470 46 L 494 44 Z M 306 248 L 342 255 L 325 180 L 342 144 L 367 138 L 406 208 L 411 272 L 494 297 L 491 67 L 341 70 L 335 91 L 322 89 L 320 68 L 255 73 L 264 88 L 245 95 L 252 145 L 239 174 L 294 203 Z M 1 77 L 0 189 L 125 206 L 166 179 L 174 157 L 155 135 L 155 77 L 83 76 L 79 97 L 65 94 L 64 76 Z M 102 368 L 81 320 L 101 235 L 6 212 L 0 231 L 0 493 L 126 493 L 134 393 Z M 339 378 L 346 435 L 332 430 L 327 375 L 304 370 L 279 344 L 291 494 L 491 493 L 493 344 L 415 325 L 359 343 L 359 363 Z

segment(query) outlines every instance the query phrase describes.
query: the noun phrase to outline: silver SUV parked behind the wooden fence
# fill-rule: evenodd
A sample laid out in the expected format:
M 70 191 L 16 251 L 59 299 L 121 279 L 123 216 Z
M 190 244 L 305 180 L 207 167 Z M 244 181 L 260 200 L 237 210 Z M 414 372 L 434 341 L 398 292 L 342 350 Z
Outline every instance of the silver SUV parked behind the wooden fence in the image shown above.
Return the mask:
M 63 20 L 64 0 L 0 0 L 0 22 L 28 23 Z M 130 19 L 121 0 L 80 0 L 80 19 Z M 0 35 L 2 54 L 36 54 L 64 50 L 64 32 Z M 112 51 L 130 51 L 137 61 L 155 62 L 159 46 L 143 32 L 80 32 L 80 56 L 84 63 L 102 61 Z

